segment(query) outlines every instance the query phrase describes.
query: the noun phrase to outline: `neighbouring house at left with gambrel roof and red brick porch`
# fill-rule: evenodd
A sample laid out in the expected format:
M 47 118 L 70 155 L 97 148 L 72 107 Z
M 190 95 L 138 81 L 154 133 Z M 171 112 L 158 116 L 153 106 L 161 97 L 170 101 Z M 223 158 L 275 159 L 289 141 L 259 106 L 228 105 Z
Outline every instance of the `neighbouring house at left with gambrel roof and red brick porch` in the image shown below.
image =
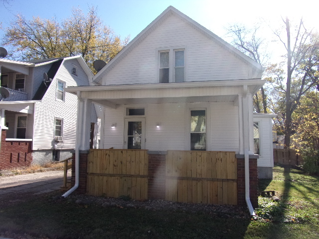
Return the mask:
M 75 147 L 77 97 L 65 93 L 64 87 L 90 84 L 93 74 L 83 58 L 0 58 L 0 76 L 0 169 L 70 157 Z M 97 147 L 98 120 L 92 109 L 91 147 Z

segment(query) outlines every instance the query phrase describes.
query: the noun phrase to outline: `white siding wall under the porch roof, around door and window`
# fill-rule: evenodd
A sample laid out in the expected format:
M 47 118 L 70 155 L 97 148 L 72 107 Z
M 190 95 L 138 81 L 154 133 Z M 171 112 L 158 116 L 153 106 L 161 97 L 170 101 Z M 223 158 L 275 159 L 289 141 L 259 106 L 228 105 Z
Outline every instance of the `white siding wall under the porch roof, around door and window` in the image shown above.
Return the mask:
M 206 104 L 207 105 L 207 104 Z M 120 106 L 116 110 L 105 109 L 104 145 L 101 148 L 123 148 L 125 109 L 134 106 Z M 140 107 L 140 106 L 136 106 Z M 189 109 L 202 108 L 198 104 L 148 104 L 146 109 L 146 149 L 149 150 L 189 150 L 186 145 L 189 125 L 186 114 Z M 207 112 L 210 112 L 211 150 L 239 150 L 238 107 L 232 102 L 210 103 Z M 160 122 L 160 128 L 156 123 Z M 116 128 L 111 128 L 116 123 Z M 207 140 L 209 141 L 209 140 Z

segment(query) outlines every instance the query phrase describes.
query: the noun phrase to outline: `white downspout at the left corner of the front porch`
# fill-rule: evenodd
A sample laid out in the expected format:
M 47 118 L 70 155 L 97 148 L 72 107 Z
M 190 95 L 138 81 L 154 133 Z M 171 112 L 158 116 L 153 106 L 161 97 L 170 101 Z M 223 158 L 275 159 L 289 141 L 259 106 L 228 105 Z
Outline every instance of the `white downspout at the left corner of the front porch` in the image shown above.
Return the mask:
M 75 184 L 72 188 L 70 188 L 66 193 L 62 195 L 62 197 L 66 198 L 71 193 L 73 193 L 79 187 L 79 166 L 80 166 L 80 146 L 79 146 L 79 138 L 81 137 L 81 133 L 79 132 L 80 125 L 82 125 L 83 117 L 80 117 L 80 101 L 81 93 L 77 92 L 78 97 L 78 109 L 77 109 L 77 124 L 76 124 L 76 137 L 75 137 Z

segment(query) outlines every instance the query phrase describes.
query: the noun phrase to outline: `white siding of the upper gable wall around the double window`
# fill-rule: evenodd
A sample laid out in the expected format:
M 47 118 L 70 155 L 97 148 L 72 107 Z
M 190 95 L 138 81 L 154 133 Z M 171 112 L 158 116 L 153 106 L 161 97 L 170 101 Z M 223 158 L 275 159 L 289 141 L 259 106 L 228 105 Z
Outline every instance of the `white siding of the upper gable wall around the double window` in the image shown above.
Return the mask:
M 175 16 L 169 16 L 104 78 L 104 85 L 158 83 L 156 48 L 187 46 L 188 79 L 247 79 L 248 66 Z

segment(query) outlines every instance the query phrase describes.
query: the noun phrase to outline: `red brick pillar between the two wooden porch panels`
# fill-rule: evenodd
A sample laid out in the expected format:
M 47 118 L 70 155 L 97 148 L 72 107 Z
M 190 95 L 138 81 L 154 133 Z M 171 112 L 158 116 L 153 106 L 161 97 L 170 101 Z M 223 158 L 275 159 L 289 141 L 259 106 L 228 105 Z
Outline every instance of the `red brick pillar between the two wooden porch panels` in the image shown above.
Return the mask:
M 165 155 L 149 154 L 149 199 L 165 199 Z

